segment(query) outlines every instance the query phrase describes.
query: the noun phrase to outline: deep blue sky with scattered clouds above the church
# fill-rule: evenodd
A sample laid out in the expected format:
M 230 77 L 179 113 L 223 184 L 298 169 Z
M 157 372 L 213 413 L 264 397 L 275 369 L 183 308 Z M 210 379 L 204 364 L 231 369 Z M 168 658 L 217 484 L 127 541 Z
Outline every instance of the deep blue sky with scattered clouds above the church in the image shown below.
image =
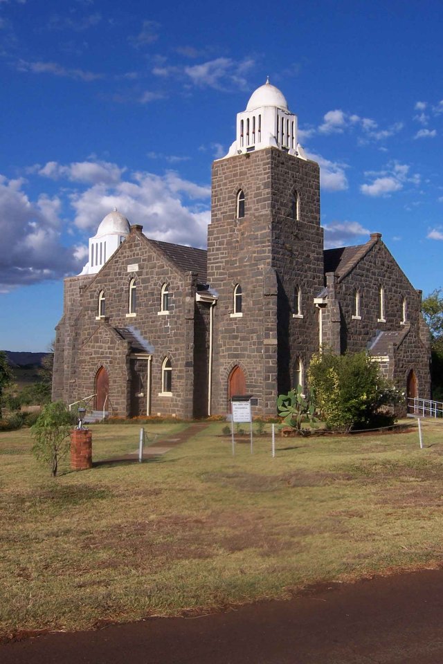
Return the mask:
M 381 232 L 443 285 L 442 3 L 0 0 L 0 348 L 43 351 L 114 205 L 205 246 L 210 165 L 270 76 L 320 163 L 327 246 Z

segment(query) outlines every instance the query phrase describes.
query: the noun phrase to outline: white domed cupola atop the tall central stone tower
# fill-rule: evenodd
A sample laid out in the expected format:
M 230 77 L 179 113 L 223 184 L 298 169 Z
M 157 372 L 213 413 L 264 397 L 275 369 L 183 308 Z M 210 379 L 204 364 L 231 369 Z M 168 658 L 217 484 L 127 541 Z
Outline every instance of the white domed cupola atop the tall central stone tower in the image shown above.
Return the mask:
M 298 143 L 297 116 L 289 111 L 283 93 L 268 77 L 251 95 L 246 111 L 237 113 L 237 138 L 226 157 L 271 146 L 306 159 Z

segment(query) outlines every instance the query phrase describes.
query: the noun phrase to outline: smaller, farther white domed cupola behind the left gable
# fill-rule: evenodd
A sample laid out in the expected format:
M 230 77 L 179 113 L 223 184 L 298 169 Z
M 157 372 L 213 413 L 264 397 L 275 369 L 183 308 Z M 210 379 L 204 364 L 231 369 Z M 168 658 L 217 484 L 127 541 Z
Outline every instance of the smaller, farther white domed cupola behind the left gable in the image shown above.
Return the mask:
M 114 208 L 102 220 L 94 237 L 89 238 L 89 261 L 82 275 L 95 275 L 129 235 L 129 221 Z

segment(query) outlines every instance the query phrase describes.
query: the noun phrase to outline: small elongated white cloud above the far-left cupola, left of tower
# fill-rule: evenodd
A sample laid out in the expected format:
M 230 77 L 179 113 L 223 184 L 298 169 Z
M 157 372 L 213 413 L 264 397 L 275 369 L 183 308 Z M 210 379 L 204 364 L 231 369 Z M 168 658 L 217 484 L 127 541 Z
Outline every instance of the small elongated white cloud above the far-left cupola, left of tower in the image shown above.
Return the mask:
M 125 168 L 107 161 L 78 161 L 69 165 L 59 164 L 57 161 L 48 161 L 37 173 L 51 180 L 69 180 L 85 184 L 112 184 L 120 181 Z

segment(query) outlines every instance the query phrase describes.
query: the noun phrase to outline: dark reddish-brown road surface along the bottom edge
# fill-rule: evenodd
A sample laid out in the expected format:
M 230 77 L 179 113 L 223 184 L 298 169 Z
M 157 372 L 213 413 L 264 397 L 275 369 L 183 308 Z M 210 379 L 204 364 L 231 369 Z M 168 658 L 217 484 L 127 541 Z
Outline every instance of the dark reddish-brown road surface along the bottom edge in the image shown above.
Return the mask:
M 442 664 L 443 571 L 0 647 L 2 664 Z

